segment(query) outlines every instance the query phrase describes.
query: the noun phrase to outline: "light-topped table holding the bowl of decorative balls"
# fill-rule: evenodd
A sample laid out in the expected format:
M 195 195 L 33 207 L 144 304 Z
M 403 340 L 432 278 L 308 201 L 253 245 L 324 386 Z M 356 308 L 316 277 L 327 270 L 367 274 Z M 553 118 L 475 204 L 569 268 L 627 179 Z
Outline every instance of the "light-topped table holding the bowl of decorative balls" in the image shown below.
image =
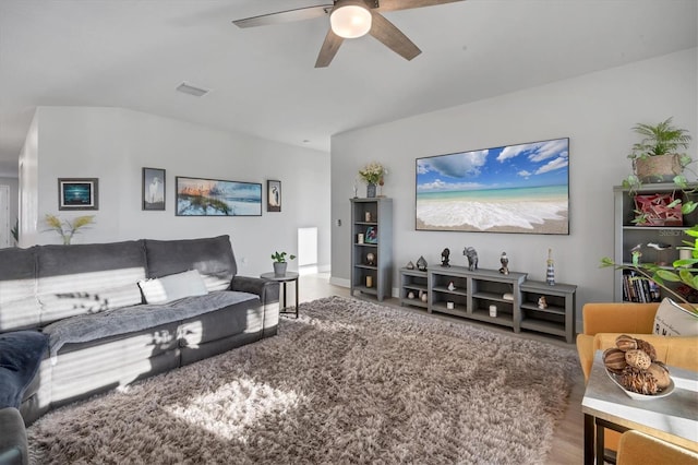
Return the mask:
M 599 458 L 603 456 L 604 428 L 616 431 L 634 429 L 698 451 L 698 372 L 667 367 L 674 380 L 674 392 L 662 398 L 637 401 L 611 381 L 602 355 L 597 350 L 581 401 L 585 464 L 593 464 L 597 454 Z M 603 462 L 599 460 L 599 463 Z

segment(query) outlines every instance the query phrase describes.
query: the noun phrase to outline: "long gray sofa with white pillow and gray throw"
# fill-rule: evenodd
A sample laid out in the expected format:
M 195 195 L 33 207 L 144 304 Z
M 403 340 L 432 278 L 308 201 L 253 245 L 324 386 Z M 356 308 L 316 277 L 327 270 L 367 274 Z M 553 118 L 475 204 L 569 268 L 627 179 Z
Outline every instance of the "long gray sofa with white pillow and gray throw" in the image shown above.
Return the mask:
M 1 249 L 0 463 L 19 418 L 276 334 L 278 291 L 228 236 Z

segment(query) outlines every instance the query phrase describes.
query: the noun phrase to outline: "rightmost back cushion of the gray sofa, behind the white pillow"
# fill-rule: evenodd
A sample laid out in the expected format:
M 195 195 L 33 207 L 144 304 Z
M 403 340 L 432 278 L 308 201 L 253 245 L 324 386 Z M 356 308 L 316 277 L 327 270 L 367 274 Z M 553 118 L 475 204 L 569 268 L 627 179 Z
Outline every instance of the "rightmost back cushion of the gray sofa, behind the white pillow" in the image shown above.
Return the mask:
M 238 272 L 228 235 L 203 239 L 145 240 L 148 276 L 198 270 L 209 291 L 230 288 Z

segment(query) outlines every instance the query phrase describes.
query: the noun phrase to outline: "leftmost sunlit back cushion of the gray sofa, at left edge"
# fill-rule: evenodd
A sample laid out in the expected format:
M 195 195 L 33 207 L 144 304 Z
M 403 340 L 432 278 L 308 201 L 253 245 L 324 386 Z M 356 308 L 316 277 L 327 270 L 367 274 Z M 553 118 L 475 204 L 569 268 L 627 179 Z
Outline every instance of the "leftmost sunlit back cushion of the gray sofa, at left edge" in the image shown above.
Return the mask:
M 36 327 L 36 247 L 0 249 L 0 332 Z

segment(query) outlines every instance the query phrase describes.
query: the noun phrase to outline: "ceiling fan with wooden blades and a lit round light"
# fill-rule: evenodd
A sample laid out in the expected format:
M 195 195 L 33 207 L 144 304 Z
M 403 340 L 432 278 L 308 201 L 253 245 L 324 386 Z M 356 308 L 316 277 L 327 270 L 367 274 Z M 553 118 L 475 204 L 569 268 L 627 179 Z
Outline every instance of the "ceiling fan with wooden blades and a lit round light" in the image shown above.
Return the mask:
M 371 34 L 400 57 L 411 60 L 422 50 L 381 13 L 457 1 L 464 0 L 334 0 L 330 4 L 262 14 L 232 23 L 239 27 L 254 27 L 311 20 L 329 14 L 330 27 L 317 55 L 315 68 L 329 65 L 345 38 L 361 37 L 365 34 Z

